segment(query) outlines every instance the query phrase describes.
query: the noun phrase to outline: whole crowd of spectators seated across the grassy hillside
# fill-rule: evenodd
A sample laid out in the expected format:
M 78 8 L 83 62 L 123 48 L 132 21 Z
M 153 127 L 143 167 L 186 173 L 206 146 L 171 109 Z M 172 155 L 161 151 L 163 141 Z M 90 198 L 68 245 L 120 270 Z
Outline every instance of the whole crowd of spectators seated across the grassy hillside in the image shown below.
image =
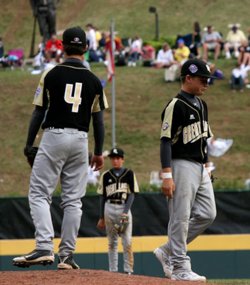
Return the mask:
M 248 36 L 246 36 L 240 27 L 240 24 L 229 24 L 229 31 L 223 37 L 221 32 L 215 30 L 212 25 L 202 29 L 199 22 L 195 22 L 192 32 L 183 36 L 178 35 L 176 43 L 172 46 L 170 43 L 164 42 L 157 54 L 154 47 L 147 44 L 143 46 L 142 38 L 138 34 L 134 34 L 131 38 L 120 38 L 115 32 L 112 44 L 115 64 L 117 66 L 136 66 L 138 60 L 143 59 L 145 66 L 164 68 L 165 81 L 172 82 L 178 80 L 181 66 L 190 58 L 196 57 L 205 61 L 209 65 L 211 73 L 218 73 L 218 70 L 215 69 L 218 57 L 235 58 L 235 67 L 232 68 L 230 78 L 231 89 L 235 92 L 235 86 L 238 84 L 239 90 L 242 92 L 244 84 L 248 83 L 247 72 L 250 70 L 250 28 Z M 104 65 L 107 65 L 107 50 L 111 44 L 110 32 L 100 31 L 91 23 L 88 23 L 84 30 L 86 30 L 88 42 L 88 52 L 82 57 L 84 65 L 87 68 L 90 68 L 91 62 L 103 62 Z M 1 51 L 0 66 L 3 66 L 5 57 L 2 44 Z M 35 66 L 44 67 L 47 64 L 47 67 L 51 67 L 63 60 L 61 40 L 54 32 L 48 40 L 39 44 L 35 56 Z M 220 76 L 223 78 L 222 74 Z M 213 84 L 213 81 L 210 81 L 209 84 Z

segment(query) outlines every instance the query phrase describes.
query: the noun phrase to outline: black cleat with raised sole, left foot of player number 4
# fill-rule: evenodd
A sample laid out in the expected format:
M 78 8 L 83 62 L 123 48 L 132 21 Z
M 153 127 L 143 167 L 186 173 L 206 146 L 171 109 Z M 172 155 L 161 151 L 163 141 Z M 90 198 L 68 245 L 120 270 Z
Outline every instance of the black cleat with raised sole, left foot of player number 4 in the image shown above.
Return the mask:
M 27 255 L 15 257 L 12 260 L 12 264 L 18 267 L 29 267 L 30 265 L 41 264 L 47 265 L 52 264 L 55 261 L 53 251 L 35 249 Z

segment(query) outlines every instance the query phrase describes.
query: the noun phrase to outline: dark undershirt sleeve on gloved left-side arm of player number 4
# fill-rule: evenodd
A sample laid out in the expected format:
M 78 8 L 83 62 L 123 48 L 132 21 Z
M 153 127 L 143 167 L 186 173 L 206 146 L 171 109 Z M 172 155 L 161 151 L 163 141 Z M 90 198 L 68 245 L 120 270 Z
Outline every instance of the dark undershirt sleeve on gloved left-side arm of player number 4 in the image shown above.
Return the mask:
M 41 127 L 41 123 L 45 116 L 45 109 L 41 106 L 36 106 L 35 110 L 31 116 L 28 137 L 26 141 L 26 146 L 33 146 L 36 135 Z

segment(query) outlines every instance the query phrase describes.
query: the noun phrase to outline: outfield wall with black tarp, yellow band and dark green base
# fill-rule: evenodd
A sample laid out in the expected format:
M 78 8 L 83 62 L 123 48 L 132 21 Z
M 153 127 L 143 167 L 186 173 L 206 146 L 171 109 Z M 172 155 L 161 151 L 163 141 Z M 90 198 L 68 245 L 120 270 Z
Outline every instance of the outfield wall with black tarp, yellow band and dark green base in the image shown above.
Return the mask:
M 250 278 L 250 191 L 215 192 L 217 217 L 212 225 L 188 245 L 192 269 L 209 279 Z M 51 215 L 55 227 L 55 254 L 60 242 L 63 212 L 61 199 L 53 197 Z M 83 215 L 74 252 L 80 268 L 108 270 L 108 241 L 99 231 L 99 196 L 82 199 Z M 134 274 L 165 277 L 153 251 L 167 242 L 168 209 L 161 193 L 140 193 L 132 205 Z M 0 198 L 0 270 L 57 269 L 31 266 L 23 269 L 12 265 L 15 256 L 35 248 L 34 225 L 27 197 Z M 122 245 L 119 241 L 119 272 L 123 272 Z

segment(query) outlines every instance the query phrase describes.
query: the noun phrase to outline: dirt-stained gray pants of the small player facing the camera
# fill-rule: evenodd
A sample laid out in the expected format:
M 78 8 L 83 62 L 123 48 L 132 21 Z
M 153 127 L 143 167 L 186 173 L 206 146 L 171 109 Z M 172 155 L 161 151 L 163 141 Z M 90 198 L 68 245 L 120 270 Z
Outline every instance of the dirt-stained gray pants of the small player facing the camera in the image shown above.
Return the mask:
M 118 235 L 112 233 L 112 226 L 116 219 L 123 213 L 125 204 L 115 205 L 105 203 L 104 221 L 106 226 L 106 235 L 108 237 L 108 262 L 109 271 L 118 271 Z M 123 247 L 123 270 L 124 272 L 133 272 L 134 256 L 132 251 L 132 214 L 128 211 L 129 225 L 126 232 L 121 234 Z

